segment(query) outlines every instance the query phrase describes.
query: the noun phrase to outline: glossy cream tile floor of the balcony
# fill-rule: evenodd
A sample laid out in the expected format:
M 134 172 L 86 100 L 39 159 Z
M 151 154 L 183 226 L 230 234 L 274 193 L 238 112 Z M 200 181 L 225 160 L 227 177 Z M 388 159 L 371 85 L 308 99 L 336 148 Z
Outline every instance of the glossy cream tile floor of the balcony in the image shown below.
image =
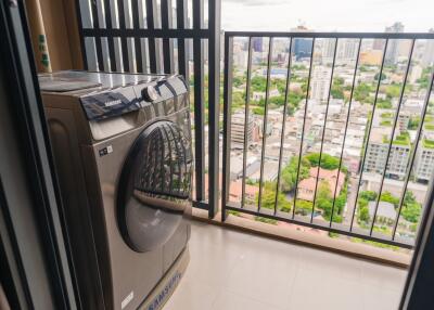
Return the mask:
M 192 223 L 191 260 L 164 310 L 397 309 L 406 271 Z

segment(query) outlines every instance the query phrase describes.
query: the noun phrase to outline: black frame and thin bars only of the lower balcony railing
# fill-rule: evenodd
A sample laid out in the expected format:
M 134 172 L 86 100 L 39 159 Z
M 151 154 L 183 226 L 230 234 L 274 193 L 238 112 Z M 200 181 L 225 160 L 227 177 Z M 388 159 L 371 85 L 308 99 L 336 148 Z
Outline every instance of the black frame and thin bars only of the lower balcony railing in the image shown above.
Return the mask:
M 329 107 L 329 102 L 330 102 L 330 89 L 332 87 L 333 83 L 333 70 L 334 70 L 334 66 L 335 66 L 335 57 L 336 57 L 336 48 L 337 48 L 337 43 L 340 41 L 340 39 L 358 39 L 358 48 L 357 48 L 357 59 L 356 59 L 356 63 L 355 63 L 355 68 L 354 68 L 354 77 L 353 77 L 353 85 L 352 85 L 352 90 L 350 90 L 350 102 L 349 102 L 349 106 L 348 106 L 348 112 L 347 112 L 347 116 L 346 116 L 346 125 L 345 125 L 345 137 L 347 133 L 347 127 L 348 127 L 348 119 L 349 119 L 349 114 L 350 114 L 350 108 L 352 108 L 352 101 L 353 101 L 353 94 L 354 94 L 354 89 L 355 89 L 355 83 L 356 83 L 356 75 L 357 75 L 357 70 L 359 68 L 359 59 L 360 59 L 360 49 L 361 49 L 361 44 L 362 44 L 362 40 L 363 39 L 383 39 L 385 41 L 384 43 L 384 49 L 382 52 L 382 61 L 381 61 L 381 67 L 380 67 L 380 76 L 383 72 L 383 67 L 384 67 L 384 63 L 385 63 L 385 57 L 386 57 L 386 52 L 387 52 L 387 43 L 390 40 L 393 39 L 408 39 L 411 40 L 411 49 L 409 52 L 409 59 L 408 59 L 408 63 L 407 63 L 407 67 L 406 67 L 406 73 L 405 73 L 405 80 L 403 82 L 403 87 L 401 87 L 401 92 L 399 94 L 399 106 L 400 106 L 400 102 L 403 101 L 403 96 L 404 96 L 404 92 L 405 92 L 405 88 L 406 88 L 406 80 L 408 77 L 408 73 L 409 73 L 409 68 L 411 65 L 411 60 L 412 60 L 412 50 L 413 50 L 413 46 L 414 46 L 414 41 L 418 39 L 430 39 L 430 40 L 434 40 L 434 35 L 433 34 L 388 34 L 388 33 L 363 33 L 363 34 L 357 34 L 357 33 L 265 33 L 265 31 L 228 31 L 225 34 L 225 88 L 224 88 L 224 160 L 222 160 L 222 171 L 224 171 L 224 183 L 222 183 L 222 199 L 221 199 L 221 219 L 222 221 L 226 220 L 227 218 L 227 211 L 228 210 L 232 210 L 232 211 L 238 211 L 238 212 L 243 212 L 243 214 L 250 214 L 253 216 L 260 216 L 264 218 L 268 218 L 268 219 L 273 219 L 273 220 L 278 220 L 278 221 L 284 221 L 284 222 L 290 222 L 290 223 L 295 223 L 295 224 L 299 224 L 299 225 L 306 225 L 306 227 L 310 227 L 310 228 L 315 228 L 315 229 L 320 229 L 320 230 L 326 230 L 329 232 L 333 232 L 333 233 L 339 233 L 339 234 L 343 234 L 343 235 L 348 235 L 348 236 L 353 236 L 353 237 L 360 237 L 363 240 L 368 240 L 368 241 L 373 241 L 373 242 L 379 242 L 379 243 L 384 243 L 384 244 L 388 244 L 388 245 L 394 245 L 394 246 L 399 246 L 399 247 L 404 247 L 404 248 L 412 248 L 413 244 L 407 241 L 397 241 L 395 238 L 395 233 L 396 233 L 396 227 L 394 228 L 394 235 L 392 237 L 386 237 L 386 236 L 380 236 L 380 235 L 375 235 L 373 234 L 373 225 L 375 223 L 375 218 L 376 218 L 376 210 L 378 210 L 378 204 L 379 201 L 376 201 L 376 205 L 375 205 L 375 215 L 372 219 L 372 225 L 370 228 L 369 231 L 365 232 L 365 231 L 354 231 L 353 230 L 353 223 L 354 223 L 354 218 L 355 218 L 355 212 L 357 209 L 357 198 L 356 197 L 356 206 L 354 207 L 354 211 L 353 211 L 353 217 L 352 217 L 352 223 L 349 225 L 349 228 L 340 225 L 340 224 L 333 224 L 332 225 L 332 219 L 330 220 L 330 222 L 327 222 L 324 224 L 322 223 L 317 223 L 314 221 L 312 217 L 314 217 L 314 208 L 315 208 L 315 198 L 314 198 L 314 203 L 312 203 L 312 212 L 310 216 L 310 221 L 308 220 L 302 220 L 302 219 L 297 219 L 295 217 L 295 199 L 296 199 L 296 193 L 297 193 L 297 185 L 295 186 L 295 195 L 294 195 L 294 205 L 293 205 L 293 209 L 292 209 L 292 216 L 289 214 L 282 214 L 282 212 L 278 212 L 277 211 L 277 202 L 278 202 L 278 194 L 279 194 L 279 183 L 280 183 L 280 170 L 281 170 L 281 162 L 282 162 L 282 150 L 280 150 L 280 154 L 279 154 L 279 171 L 278 171 L 278 189 L 277 189 L 277 193 L 276 193 L 276 201 L 275 201 L 275 209 L 273 210 L 263 210 L 260 209 L 260 198 L 261 198 L 261 191 L 263 191 L 263 171 L 264 171 L 264 159 L 265 159 L 265 154 L 264 154 L 264 150 L 265 150 L 265 139 L 263 138 L 263 146 L 261 146 L 261 158 L 260 158 L 260 181 L 259 181 L 259 197 L 258 197 L 258 206 L 257 208 L 250 208 L 246 207 L 244 204 L 245 201 L 245 157 L 246 157 L 246 134 L 244 132 L 244 150 L 243 150 L 243 184 L 242 184 L 242 197 L 241 197 L 241 206 L 237 203 L 231 203 L 229 202 L 229 176 L 230 176 L 230 143 L 231 143 L 231 98 L 232 98 L 232 70 L 233 70 L 233 65 L 232 65 L 232 49 L 233 49 L 233 39 L 234 38 L 246 38 L 248 40 L 248 56 L 247 56 L 247 80 L 246 80 L 246 93 L 250 93 L 250 78 L 251 78 L 251 70 L 252 70 L 252 38 L 265 38 L 270 40 L 270 46 L 272 42 L 273 38 L 286 38 L 290 40 L 290 44 L 291 44 L 291 49 L 292 49 L 292 44 L 293 41 L 295 39 L 299 39 L 299 38 L 305 38 L 305 39 L 310 39 L 311 40 L 311 55 L 310 55 L 310 66 L 309 66 L 309 74 L 308 74 L 308 80 L 307 80 L 307 94 L 306 94 L 306 102 L 305 102 L 305 114 L 304 114 L 304 122 L 303 122 L 303 132 L 302 132 L 302 141 L 301 141 L 301 145 L 299 145 L 299 153 L 298 153 L 298 167 L 297 167 L 297 180 L 296 183 L 298 183 L 298 179 L 299 179 L 299 169 L 301 169 L 301 159 L 302 159 L 302 153 L 303 153 L 303 140 L 304 140 L 304 129 L 305 129 L 305 122 L 306 122 L 306 112 L 307 112 L 307 104 L 308 104 L 308 98 L 309 98 L 309 89 L 310 89 L 310 79 L 311 79 L 311 70 L 312 70 L 312 62 L 314 62 L 314 50 L 315 50 L 315 41 L 317 39 L 334 39 L 335 40 L 335 46 L 334 46 L 334 53 L 333 53 L 333 66 L 332 66 L 332 77 L 330 79 L 330 86 L 329 86 L 329 94 L 328 94 L 328 104 L 327 104 L 327 109 Z M 290 53 L 291 53 L 291 49 L 290 49 Z M 270 72 L 270 57 L 271 57 L 271 53 L 272 53 L 272 49 L 270 48 L 268 51 L 268 63 L 267 63 L 267 85 L 266 85 L 266 99 L 265 99 L 265 116 L 264 116 L 264 124 L 266 124 L 267 121 L 267 105 L 268 105 L 268 88 L 269 88 L 269 72 Z M 290 77 L 291 73 L 291 57 L 289 57 L 289 67 L 288 67 L 288 77 Z M 434 73 L 433 73 L 434 76 Z M 289 85 L 290 81 L 289 79 L 286 80 L 286 89 L 285 89 L 285 102 L 284 102 L 284 111 L 286 111 L 286 105 L 288 105 L 288 92 L 289 92 Z M 380 90 L 380 85 L 381 85 L 381 79 L 379 78 L 378 81 L 378 86 L 376 86 L 376 91 L 375 91 L 375 98 L 374 98 L 374 103 L 373 103 L 373 107 L 372 107 L 372 114 L 375 111 L 375 106 L 376 106 L 376 101 L 378 101 L 378 94 L 379 94 L 379 90 Z M 426 105 L 427 102 L 430 100 L 430 93 L 432 91 L 433 88 L 433 83 L 431 80 L 431 85 L 430 88 L 427 89 L 427 94 L 424 101 L 424 108 L 422 111 L 422 119 L 424 117 L 424 113 L 426 112 Z M 248 111 L 248 104 L 250 104 L 250 95 L 246 95 L 246 102 L 245 102 L 245 113 L 246 113 L 246 117 L 248 117 L 247 111 Z M 327 112 L 326 112 L 327 113 Z M 396 112 L 395 115 L 395 119 L 394 119 L 394 126 L 393 126 L 393 132 L 395 131 L 395 127 L 397 125 L 397 117 L 399 115 L 399 107 L 398 111 Z M 247 124 L 247 120 L 245 120 Z M 245 125 L 246 126 L 246 125 Z M 285 124 L 282 124 L 282 130 L 284 130 L 284 126 Z M 323 132 L 322 132 L 322 140 L 321 140 L 321 151 L 320 154 L 322 155 L 322 144 L 323 144 L 323 139 L 324 139 L 324 131 L 326 131 L 326 126 L 327 126 L 327 116 L 324 118 L 324 126 L 323 126 Z M 418 139 L 420 138 L 421 134 L 421 126 L 418 128 Z M 370 121 L 370 124 L 368 125 L 368 138 L 371 131 L 371 127 L 372 127 L 372 121 Z M 265 127 L 264 127 L 265 128 Z M 246 128 L 244 127 L 244 131 L 246 131 Z M 264 131 L 265 132 L 265 131 Z M 264 134 L 264 133 L 263 133 Z M 283 134 L 283 131 L 282 131 Z M 265 134 L 264 134 L 265 135 Z M 342 156 L 343 156 L 343 152 L 344 152 L 344 147 L 345 147 L 345 137 L 344 137 L 344 142 L 342 145 L 342 152 L 341 152 L 341 156 L 340 156 L 340 168 L 342 167 Z M 281 137 L 281 140 L 283 141 L 283 138 Z M 391 140 L 391 144 L 388 145 L 388 153 L 391 152 L 391 145 L 392 145 L 392 141 Z M 366 146 L 365 146 L 365 154 L 361 158 L 361 173 L 363 171 L 363 167 L 365 167 L 365 158 L 366 158 L 366 153 L 367 153 L 367 146 L 368 141 L 366 142 Z M 416 146 L 418 147 L 418 144 L 414 143 Z M 282 145 L 282 144 L 281 144 Z M 282 146 L 281 146 L 282 147 Z M 414 154 L 416 150 L 413 150 L 412 154 L 411 154 L 411 158 L 410 158 L 410 163 L 411 165 L 413 164 L 414 160 Z M 321 155 L 320 155 L 320 160 L 321 160 Z M 384 167 L 384 173 L 382 177 L 382 184 L 384 182 L 384 176 L 385 176 L 385 170 L 387 167 L 387 162 L 388 162 L 388 157 L 390 154 L 387 155 L 387 160 Z M 318 169 L 319 170 L 319 169 Z M 408 169 L 408 175 L 411 173 L 411 167 Z M 361 180 L 361 176 L 360 176 L 360 180 Z M 360 180 L 359 180 L 359 188 L 360 188 Z M 337 180 L 339 181 L 339 180 Z M 336 181 L 336 186 L 337 186 L 337 181 Z M 407 186 L 408 183 L 408 179 L 406 180 L 405 184 Z M 381 188 L 382 188 L 381 184 Z M 318 185 L 318 178 L 316 181 L 316 188 Z M 382 190 L 382 189 L 381 189 Z M 380 190 L 380 192 L 381 192 Z M 358 191 L 358 189 L 357 189 Z M 400 197 L 399 201 L 399 208 L 398 208 L 398 216 L 397 216 L 397 221 L 399 220 L 399 215 L 400 215 L 400 210 L 403 207 L 403 201 L 404 201 L 404 195 L 405 195 L 406 190 L 404 190 L 404 193 Z M 358 196 L 359 191 L 357 192 L 357 196 Z M 316 193 L 315 193 L 316 195 Z M 379 194 L 380 197 L 380 194 Z M 334 193 L 334 198 L 335 198 L 335 193 Z M 332 206 L 332 217 L 334 214 L 334 201 L 333 199 L 333 206 Z M 397 222 L 396 221 L 396 222 Z

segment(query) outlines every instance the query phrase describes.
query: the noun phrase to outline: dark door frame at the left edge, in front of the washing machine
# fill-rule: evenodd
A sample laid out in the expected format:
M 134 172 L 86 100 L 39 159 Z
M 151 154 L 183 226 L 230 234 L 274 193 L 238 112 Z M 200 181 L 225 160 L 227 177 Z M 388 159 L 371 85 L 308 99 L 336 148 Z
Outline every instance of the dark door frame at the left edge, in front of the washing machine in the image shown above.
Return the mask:
M 2 286 L 12 309 L 77 309 L 24 3 L 0 16 Z

